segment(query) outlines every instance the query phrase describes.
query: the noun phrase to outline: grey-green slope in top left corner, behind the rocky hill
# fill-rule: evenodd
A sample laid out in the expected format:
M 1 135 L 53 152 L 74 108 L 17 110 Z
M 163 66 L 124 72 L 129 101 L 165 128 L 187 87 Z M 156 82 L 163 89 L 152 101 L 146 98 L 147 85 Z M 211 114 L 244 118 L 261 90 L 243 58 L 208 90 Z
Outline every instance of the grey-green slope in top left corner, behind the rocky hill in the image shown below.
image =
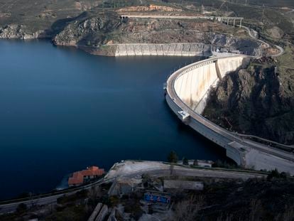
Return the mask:
M 78 16 L 85 9 L 99 4 L 94 0 L 1 0 L 0 14 L 9 14 L 0 18 L 0 26 L 10 23 L 26 25 L 31 31 L 45 30 L 59 19 Z

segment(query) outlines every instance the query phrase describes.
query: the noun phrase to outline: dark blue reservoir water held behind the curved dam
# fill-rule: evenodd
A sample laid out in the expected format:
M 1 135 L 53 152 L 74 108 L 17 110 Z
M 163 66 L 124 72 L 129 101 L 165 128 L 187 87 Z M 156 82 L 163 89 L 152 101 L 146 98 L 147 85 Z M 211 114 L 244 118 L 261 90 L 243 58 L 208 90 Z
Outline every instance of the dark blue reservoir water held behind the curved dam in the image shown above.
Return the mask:
M 194 58 L 195 60 L 195 58 Z M 224 159 L 170 111 L 163 82 L 191 58 L 106 58 L 0 41 L 0 198 L 55 188 L 122 159 Z

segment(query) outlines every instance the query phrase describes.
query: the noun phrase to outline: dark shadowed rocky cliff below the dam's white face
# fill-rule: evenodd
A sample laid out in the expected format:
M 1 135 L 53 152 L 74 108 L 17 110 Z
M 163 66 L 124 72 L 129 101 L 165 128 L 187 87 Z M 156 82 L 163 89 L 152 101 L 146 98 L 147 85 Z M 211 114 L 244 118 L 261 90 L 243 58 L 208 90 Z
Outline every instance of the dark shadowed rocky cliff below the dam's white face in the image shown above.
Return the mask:
M 281 73 L 271 59 L 224 77 L 209 96 L 204 116 L 231 131 L 294 144 L 293 70 Z

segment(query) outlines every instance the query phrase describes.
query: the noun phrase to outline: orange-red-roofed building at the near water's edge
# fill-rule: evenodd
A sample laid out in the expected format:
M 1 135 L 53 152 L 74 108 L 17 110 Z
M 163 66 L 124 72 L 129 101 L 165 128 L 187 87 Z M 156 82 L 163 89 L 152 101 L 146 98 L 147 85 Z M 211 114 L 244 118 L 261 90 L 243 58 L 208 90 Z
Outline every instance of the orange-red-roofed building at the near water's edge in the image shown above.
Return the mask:
M 82 185 L 83 183 L 92 180 L 94 178 L 98 178 L 105 173 L 104 169 L 101 169 L 97 166 L 90 166 L 87 170 L 77 171 L 72 173 L 72 176 L 68 178 L 69 186 L 77 186 Z

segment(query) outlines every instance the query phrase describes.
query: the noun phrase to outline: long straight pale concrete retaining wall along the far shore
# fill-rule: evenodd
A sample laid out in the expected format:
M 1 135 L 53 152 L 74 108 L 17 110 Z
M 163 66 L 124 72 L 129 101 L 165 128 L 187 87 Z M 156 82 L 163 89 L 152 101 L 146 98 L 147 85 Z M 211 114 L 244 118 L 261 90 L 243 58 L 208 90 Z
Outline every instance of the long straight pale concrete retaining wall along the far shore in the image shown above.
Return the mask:
M 118 44 L 115 56 L 163 55 L 163 56 L 210 56 L 210 45 L 201 43 L 170 44 Z

